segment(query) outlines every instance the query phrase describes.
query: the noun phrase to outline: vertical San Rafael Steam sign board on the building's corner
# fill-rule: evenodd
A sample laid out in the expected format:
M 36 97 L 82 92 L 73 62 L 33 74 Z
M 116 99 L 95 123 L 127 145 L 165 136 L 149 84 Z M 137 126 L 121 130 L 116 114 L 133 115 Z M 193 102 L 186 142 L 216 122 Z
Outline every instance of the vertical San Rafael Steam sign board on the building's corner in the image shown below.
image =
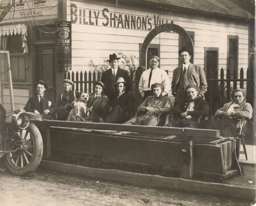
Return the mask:
M 56 54 L 60 71 L 71 70 L 71 21 L 56 21 Z

